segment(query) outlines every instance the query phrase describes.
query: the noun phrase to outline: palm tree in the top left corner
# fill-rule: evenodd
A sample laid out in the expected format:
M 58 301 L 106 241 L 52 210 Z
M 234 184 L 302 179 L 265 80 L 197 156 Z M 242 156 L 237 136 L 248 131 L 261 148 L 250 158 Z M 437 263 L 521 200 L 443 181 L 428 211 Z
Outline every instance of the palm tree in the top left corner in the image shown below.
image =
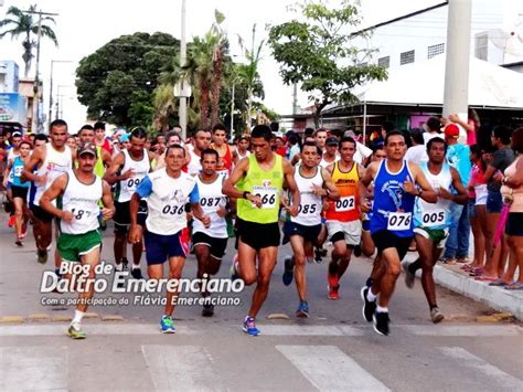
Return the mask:
M 36 12 L 36 4 L 30 6 L 29 10 L 32 12 Z M 11 35 L 11 39 L 15 39 L 19 38 L 19 35 L 23 35 L 22 60 L 25 65 L 23 74 L 25 77 L 28 77 L 29 71 L 31 70 L 31 61 L 34 57 L 33 47 L 36 46 L 36 41 L 33 39 L 33 36 L 36 36 L 39 34 L 40 17 L 34 18 L 33 13 L 25 13 L 17 7 L 10 7 L 7 12 L 7 15 L 11 15 L 12 18 L 6 18 L 0 21 L 0 29 L 7 28 L 7 30 L 0 32 L 0 39 L 4 38 L 8 34 Z M 56 40 L 56 34 L 54 33 L 53 29 L 45 24 L 47 22 L 54 23 L 54 19 L 51 17 L 42 17 L 40 25 L 40 35 L 43 38 L 49 38 L 51 41 L 54 42 L 55 45 L 58 45 L 58 41 Z

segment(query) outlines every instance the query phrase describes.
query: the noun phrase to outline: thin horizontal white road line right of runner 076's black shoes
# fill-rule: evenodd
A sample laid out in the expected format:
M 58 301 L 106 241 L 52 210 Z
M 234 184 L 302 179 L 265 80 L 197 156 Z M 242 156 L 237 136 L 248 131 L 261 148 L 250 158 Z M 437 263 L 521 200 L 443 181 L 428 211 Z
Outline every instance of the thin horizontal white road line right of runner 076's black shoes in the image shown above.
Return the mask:
M 493 336 L 517 336 L 523 329 L 517 326 L 402 326 L 410 333 L 418 336 L 462 336 L 462 337 L 493 337 Z

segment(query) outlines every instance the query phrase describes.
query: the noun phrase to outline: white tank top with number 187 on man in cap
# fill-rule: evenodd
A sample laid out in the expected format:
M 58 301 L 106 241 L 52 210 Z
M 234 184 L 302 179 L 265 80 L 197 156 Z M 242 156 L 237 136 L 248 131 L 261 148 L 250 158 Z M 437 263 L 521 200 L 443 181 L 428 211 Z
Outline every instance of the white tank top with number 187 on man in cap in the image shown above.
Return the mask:
M 74 218 L 71 223 L 60 221 L 62 233 L 85 234 L 97 230 L 100 212 L 98 202 L 104 193 L 102 179 L 95 176 L 95 180 L 86 184 L 76 178 L 73 170 L 67 177 L 67 186 L 62 195 L 62 209 L 72 212 Z

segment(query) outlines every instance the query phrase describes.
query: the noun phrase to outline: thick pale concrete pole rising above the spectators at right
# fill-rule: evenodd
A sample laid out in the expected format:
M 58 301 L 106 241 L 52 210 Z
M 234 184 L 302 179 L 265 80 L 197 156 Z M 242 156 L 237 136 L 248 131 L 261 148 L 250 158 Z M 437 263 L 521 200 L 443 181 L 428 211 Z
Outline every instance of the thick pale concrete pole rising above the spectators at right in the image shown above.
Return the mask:
M 449 0 L 444 116 L 457 114 L 467 123 L 471 0 Z

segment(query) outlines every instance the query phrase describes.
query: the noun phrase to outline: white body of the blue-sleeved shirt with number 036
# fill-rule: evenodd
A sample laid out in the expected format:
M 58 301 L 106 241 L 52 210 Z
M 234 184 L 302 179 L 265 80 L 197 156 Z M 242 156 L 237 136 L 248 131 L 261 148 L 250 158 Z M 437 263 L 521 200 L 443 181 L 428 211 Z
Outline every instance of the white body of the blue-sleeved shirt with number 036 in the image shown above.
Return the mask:
M 183 171 L 174 179 L 167 173 L 166 168 L 148 177 L 151 192 L 147 197 L 147 230 L 160 235 L 177 234 L 188 225 L 185 204 L 196 187 L 196 179 Z

